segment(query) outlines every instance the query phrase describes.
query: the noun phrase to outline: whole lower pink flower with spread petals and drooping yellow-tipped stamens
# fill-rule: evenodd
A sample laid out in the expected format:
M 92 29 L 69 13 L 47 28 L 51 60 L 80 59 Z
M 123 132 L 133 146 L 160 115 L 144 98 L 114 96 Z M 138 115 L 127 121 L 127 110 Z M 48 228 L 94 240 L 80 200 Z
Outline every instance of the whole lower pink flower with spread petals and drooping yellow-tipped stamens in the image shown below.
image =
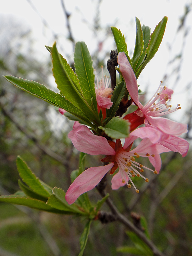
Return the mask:
M 130 188 L 132 184 L 136 192 L 139 193 L 131 177 L 141 176 L 145 181 L 148 181 L 140 172 L 143 172 L 143 169 L 148 169 L 154 173 L 159 172 L 161 168 L 159 154 L 170 151 L 158 143 L 161 140 L 161 136 L 162 133 L 154 128 L 138 128 L 130 133 L 122 147 L 120 140 L 116 140 L 116 142 L 108 141 L 102 136 L 94 135 L 84 125 L 74 128 L 69 132 L 68 137 L 77 150 L 90 155 L 107 155 L 101 161 L 110 163 L 99 167 L 91 167 L 81 173 L 68 188 L 66 193 L 68 204 L 74 203 L 78 196 L 93 189 L 110 169 L 110 173 L 113 174 L 117 167 L 119 167 L 119 172 L 112 178 L 112 189 L 117 189 L 125 184 Z M 139 137 L 143 140 L 136 148 L 131 150 L 133 141 Z M 138 158 L 139 156 L 148 157 L 156 170 L 153 171 L 137 163 L 135 157 Z M 128 183 L 128 180 L 130 180 L 131 184 Z

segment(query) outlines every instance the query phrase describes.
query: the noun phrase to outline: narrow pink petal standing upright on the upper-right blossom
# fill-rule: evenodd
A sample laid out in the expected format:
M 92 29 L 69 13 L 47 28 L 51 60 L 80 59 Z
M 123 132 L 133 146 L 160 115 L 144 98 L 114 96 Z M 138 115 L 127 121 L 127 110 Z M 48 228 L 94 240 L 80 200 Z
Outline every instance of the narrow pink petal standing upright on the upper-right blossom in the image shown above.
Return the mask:
M 132 69 L 132 66 L 127 60 L 127 57 L 124 52 L 119 52 L 117 56 L 117 62 L 119 64 L 120 72 L 125 80 L 126 87 L 131 98 L 139 108 L 142 108 L 143 106 L 139 102 L 137 79 L 135 77 L 135 73 Z

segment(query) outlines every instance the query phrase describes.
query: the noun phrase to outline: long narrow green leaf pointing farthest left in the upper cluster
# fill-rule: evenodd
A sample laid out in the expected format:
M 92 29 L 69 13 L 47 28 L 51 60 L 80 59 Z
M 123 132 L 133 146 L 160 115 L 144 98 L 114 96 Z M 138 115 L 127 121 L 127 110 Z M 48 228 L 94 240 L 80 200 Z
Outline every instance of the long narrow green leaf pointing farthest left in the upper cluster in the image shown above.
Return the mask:
M 71 102 L 66 100 L 59 93 L 53 92 L 46 88 L 43 84 L 39 84 L 35 81 L 29 81 L 14 76 L 4 76 L 4 78 L 13 85 L 22 89 L 23 91 L 31 93 L 34 96 L 52 104 L 53 106 L 63 108 L 69 113 L 87 120 L 87 116 L 84 114 L 83 111 L 75 107 L 73 104 L 71 104 Z

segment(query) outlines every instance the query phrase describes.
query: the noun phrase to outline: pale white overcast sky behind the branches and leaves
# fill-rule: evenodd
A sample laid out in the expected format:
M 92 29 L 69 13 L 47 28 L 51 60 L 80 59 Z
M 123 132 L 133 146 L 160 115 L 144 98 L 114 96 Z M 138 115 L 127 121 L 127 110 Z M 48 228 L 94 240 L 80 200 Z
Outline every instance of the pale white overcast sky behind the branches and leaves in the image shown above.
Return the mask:
M 40 58 L 49 56 L 44 45 L 52 45 L 54 42 L 53 33 L 57 34 L 58 47 L 64 57 L 69 52 L 71 54 L 72 46 L 66 40 L 68 31 L 66 28 L 66 18 L 61 8 L 60 0 L 31 0 L 30 1 L 38 11 L 35 12 L 29 1 L 27 0 L 6 0 L 0 1 L 0 15 L 13 15 L 22 20 L 33 31 L 36 40 L 35 47 L 38 49 Z M 96 0 L 65 0 L 65 6 L 70 16 L 70 24 L 72 33 L 76 41 L 85 41 L 90 52 L 95 50 L 96 40 L 93 40 L 92 24 L 95 17 Z M 155 57 L 147 64 L 142 71 L 138 84 L 141 90 L 145 90 L 150 85 L 148 92 L 155 92 L 159 81 L 163 79 L 165 73 L 172 70 L 172 66 L 167 63 L 175 54 L 180 53 L 182 48 L 183 31 L 176 37 L 176 30 L 179 25 L 179 18 L 184 13 L 184 5 L 191 3 L 187 0 L 103 0 L 100 5 L 100 20 L 102 27 L 116 26 L 121 29 L 126 37 L 129 52 L 133 51 L 135 42 L 135 16 L 140 19 L 141 25 L 145 24 L 154 30 L 158 22 L 166 15 L 168 23 L 165 30 L 162 44 Z M 48 27 L 43 25 L 42 20 L 46 20 Z M 87 25 L 84 20 L 89 22 Z M 175 104 L 181 103 L 180 117 L 184 114 L 184 110 L 188 107 L 187 100 L 192 98 L 191 93 L 186 89 L 191 83 L 191 41 L 192 41 L 192 12 L 188 14 L 186 26 L 190 29 L 187 37 L 187 43 L 184 48 L 184 58 L 180 70 L 180 80 L 175 85 L 175 76 L 169 81 L 170 88 L 175 90 L 173 94 Z M 103 34 L 99 35 L 102 40 Z M 168 51 L 167 44 L 173 45 L 172 52 Z M 108 50 L 114 45 L 112 37 L 109 37 L 107 44 Z M 151 93 L 152 93 L 151 92 Z M 190 100 L 191 102 L 191 100 Z M 172 104 L 174 105 L 174 104 Z M 182 111 L 182 112 L 181 112 Z M 178 113 L 179 111 L 177 111 Z M 174 119 L 178 119 L 178 115 L 173 115 Z M 181 120 L 179 120 L 181 121 Z M 185 121 L 183 121 L 185 122 Z

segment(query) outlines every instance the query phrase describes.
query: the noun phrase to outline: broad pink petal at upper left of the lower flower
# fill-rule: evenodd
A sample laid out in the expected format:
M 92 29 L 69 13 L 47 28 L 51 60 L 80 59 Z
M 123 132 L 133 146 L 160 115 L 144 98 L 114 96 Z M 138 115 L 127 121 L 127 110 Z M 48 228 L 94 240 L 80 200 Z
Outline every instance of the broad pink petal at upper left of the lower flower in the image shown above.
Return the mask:
M 106 138 L 94 135 L 87 126 L 80 125 L 69 132 L 74 147 L 89 155 L 115 155 L 115 150 L 108 144 Z

